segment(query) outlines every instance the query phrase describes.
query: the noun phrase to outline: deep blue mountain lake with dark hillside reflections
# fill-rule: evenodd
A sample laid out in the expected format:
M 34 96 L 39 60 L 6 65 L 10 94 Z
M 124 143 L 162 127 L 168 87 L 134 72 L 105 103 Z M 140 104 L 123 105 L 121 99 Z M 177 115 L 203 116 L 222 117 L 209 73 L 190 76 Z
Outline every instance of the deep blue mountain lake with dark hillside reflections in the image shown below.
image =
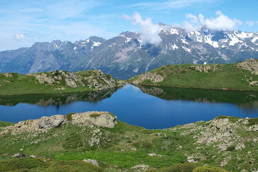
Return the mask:
M 0 97 L 0 121 L 18 122 L 70 112 L 108 111 L 147 129 L 207 121 L 225 115 L 258 117 L 258 93 L 168 87 L 123 88 L 93 93 Z

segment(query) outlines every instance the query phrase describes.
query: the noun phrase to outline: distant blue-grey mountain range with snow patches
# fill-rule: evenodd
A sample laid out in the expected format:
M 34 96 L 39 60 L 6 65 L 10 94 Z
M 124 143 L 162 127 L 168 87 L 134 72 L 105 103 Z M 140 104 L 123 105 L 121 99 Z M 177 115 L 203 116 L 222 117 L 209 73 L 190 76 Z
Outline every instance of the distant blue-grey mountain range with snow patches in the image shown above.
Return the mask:
M 258 57 L 258 32 L 214 31 L 202 27 L 184 28 L 159 23 L 161 42 L 143 44 L 138 32 L 122 32 L 105 40 L 91 36 L 74 43 L 54 40 L 31 47 L 0 52 L 0 72 L 20 74 L 42 71 L 100 69 L 119 79 L 167 64 L 234 63 Z

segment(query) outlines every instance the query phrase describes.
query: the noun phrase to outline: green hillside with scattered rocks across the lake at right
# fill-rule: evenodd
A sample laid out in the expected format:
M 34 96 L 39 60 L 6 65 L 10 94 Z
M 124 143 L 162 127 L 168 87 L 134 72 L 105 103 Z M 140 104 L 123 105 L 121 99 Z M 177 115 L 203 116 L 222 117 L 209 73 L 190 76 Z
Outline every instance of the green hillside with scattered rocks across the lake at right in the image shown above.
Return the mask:
M 171 87 L 258 90 L 258 60 L 234 64 L 181 64 L 158 67 L 132 77 L 129 83 Z

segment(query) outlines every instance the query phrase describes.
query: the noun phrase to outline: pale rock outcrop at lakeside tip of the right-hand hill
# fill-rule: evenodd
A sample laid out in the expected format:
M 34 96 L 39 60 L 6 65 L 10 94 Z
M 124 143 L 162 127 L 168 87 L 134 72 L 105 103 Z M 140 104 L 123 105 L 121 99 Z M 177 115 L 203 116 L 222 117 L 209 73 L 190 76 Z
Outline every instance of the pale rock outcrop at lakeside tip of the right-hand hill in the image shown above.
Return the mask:
M 150 80 L 153 83 L 161 82 L 163 81 L 167 76 L 165 74 L 161 75 L 156 72 L 147 72 L 141 74 L 135 81 L 132 83 L 138 84 L 141 83 L 144 80 Z

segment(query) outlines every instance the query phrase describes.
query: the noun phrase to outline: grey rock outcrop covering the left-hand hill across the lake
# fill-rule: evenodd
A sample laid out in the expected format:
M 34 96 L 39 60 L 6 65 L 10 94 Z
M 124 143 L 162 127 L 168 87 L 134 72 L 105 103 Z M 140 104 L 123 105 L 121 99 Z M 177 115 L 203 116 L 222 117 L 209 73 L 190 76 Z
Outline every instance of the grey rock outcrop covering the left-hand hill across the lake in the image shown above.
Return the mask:
M 88 73 L 85 74 L 83 72 L 72 73 L 68 71 L 56 71 L 52 73 L 30 73 L 26 75 L 35 77 L 40 84 L 62 86 L 56 88 L 57 90 L 66 89 L 66 86 L 72 88 L 88 87 L 89 89 L 101 90 L 122 87 L 124 85 L 123 81 L 116 80 L 100 70 L 87 72 Z

